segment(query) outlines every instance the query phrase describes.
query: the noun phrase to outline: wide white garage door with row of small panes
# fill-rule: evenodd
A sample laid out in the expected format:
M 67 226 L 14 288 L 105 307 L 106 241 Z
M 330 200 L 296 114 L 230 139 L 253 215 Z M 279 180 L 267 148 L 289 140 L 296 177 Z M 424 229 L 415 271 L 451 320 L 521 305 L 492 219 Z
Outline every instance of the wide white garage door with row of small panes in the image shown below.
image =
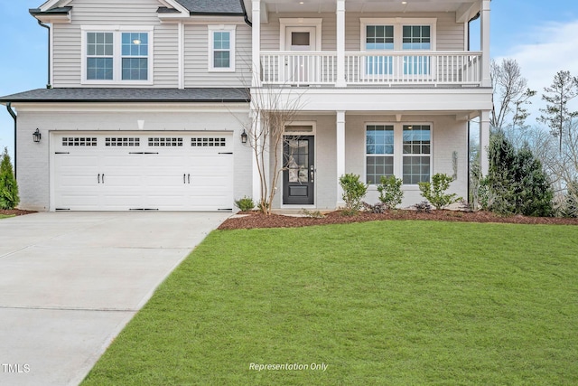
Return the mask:
M 230 211 L 230 133 L 52 135 L 53 209 Z

